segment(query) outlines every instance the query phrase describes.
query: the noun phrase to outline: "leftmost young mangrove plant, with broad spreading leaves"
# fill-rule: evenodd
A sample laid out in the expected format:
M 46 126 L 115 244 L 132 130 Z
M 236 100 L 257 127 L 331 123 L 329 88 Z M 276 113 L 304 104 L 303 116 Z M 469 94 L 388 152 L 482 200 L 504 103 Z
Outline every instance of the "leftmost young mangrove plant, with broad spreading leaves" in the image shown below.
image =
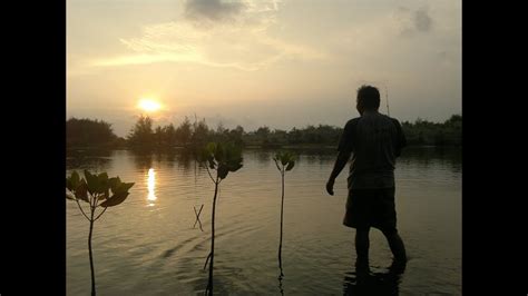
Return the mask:
M 117 206 L 125 201 L 129 195 L 128 190 L 134 182 L 123 182 L 119 177 L 108 178 L 106 172 L 92 175 L 85 170 L 85 178 L 79 177 L 77 171 L 66 178 L 66 198 L 74 200 L 79 206 L 80 213 L 90 223 L 90 231 L 88 234 L 88 254 L 90 257 L 91 270 L 91 295 L 96 295 L 96 278 L 94 272 L 94 256 L 91 251 L 91 235 L 94 231 L 94 223 L 106 211 L 107 208 Z M 82 209 L 79 201 L 89 205 L 89 214 Z M 96 209 L 102 208 L 96 216 Z

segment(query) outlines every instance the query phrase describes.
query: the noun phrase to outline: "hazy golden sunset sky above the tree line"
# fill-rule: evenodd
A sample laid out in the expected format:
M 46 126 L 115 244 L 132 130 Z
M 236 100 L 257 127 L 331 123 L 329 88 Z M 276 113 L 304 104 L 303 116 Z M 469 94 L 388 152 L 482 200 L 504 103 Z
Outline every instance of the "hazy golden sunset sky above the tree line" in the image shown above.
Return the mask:
M 461 114 L 461 1 L 67 0 L 67 118 L 118 136 L 140 115 L 342 127 L 365 83 L 400 121 Z

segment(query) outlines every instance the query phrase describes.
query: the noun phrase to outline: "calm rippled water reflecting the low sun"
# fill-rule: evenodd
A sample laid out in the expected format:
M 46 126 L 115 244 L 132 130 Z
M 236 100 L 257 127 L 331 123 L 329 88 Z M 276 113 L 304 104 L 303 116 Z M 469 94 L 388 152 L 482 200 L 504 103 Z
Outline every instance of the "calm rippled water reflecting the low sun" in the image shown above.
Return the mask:
M 354 229 L 344 227 L 346 170 L 329 196 L 334 154 L 302 154 L 286 175 L 282 283 L 277 265 L 281 177 L 272 152 L 246 150 L 244 167 L 221 184 L 216 211 L 215 294 L 343 295 L 358 288 Z M 98 295 L 199 295 L 209 251 L 214 184 L 188 156 L 119 150 L 67 160 L 135 181 L 128 199 L 97 220 Z M 410 260 L 394 278 L 382 234 L 371 230 L 370 274 L 362 289 L 400 295 L 461 295 L 460 150 L 408 149 L 398 161 L 398 227 Z M 348 169 L 348 168 L 346 168 Z M 193 207 L 204 205 L 203 230 Z M 67 201 L 67 292 L 89 295 L 88 221 Z M 369 293 L 371 289 L 371 293 Z M 397 295 L 391 294 L 391 295 Z

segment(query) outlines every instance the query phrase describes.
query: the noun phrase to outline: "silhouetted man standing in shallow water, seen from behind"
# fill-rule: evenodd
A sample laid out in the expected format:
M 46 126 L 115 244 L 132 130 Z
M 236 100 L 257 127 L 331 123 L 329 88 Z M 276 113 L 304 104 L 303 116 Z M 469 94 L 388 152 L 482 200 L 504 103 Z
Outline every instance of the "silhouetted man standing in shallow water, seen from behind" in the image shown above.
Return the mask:
M 394 259 L 407 262 L 405 248 L 397 230 L 394 207 L 394 165 L 405 136 L 397 119 L 378 112 L 380 92 L 375 87 L 358 89 L 356 109 L 361 117 L 344 126 L 338 147 L 338 158 L 326 182 L 334 195 L 335 178 L 349 161 L 349 196 L 343 225 L 355 228 L 358 263 L 369 262 L 369 230 L 380 229 L 389 241 Z

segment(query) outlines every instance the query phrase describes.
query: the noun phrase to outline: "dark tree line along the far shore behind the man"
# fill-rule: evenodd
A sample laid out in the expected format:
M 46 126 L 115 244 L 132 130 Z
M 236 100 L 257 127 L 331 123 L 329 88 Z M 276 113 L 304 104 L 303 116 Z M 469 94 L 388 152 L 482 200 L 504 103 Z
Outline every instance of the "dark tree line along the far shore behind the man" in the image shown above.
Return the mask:
M 462 116 L 453 115 L 444 122 L 418 118 L 401 122 L 409 146 L 461 146 Z M 233 129 L 218 124 L 211 128 L 205 119 L 192 122 L 187 117 L 175 127 L 173 124 L 156 126 L 150 117 L 141 116 L 125 138 L 117 137 L 111 124 L 104 120 L 70 118 L 66 122 L 68 148 L 133 148 L 162 149 L 198 147 L 209 141 L 231 141 L 245 147 L 278 148 L 287 146 L 335 147 L 342 128 L 329 125 L 292 128 L 291 130 L 260 127 L 245 131 L 242 126 Z

